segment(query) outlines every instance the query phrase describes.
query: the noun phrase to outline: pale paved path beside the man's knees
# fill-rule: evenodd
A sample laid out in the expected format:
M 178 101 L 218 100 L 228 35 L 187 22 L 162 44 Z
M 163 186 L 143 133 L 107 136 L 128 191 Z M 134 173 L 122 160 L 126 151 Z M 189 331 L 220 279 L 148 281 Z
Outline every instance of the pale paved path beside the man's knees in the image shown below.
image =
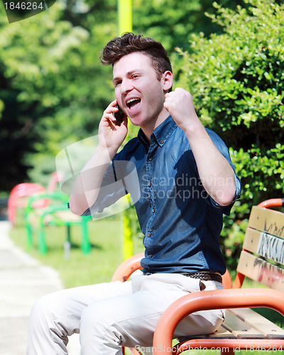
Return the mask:
M 13 244 L 9 229 L 9 222 L 0 222 L 0 354 L 26 355 L 31 307 L 40 296 L 60 290 L 62 283 L 53 268 Z M 77 334 L 70 337 L 68 354 L 80 354 Z

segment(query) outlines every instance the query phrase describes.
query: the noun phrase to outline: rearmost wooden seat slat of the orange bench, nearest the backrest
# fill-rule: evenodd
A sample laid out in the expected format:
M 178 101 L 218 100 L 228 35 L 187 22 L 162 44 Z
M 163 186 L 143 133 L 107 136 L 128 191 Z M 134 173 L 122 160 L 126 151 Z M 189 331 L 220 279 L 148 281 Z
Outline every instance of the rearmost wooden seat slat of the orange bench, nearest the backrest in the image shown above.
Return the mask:
M 251 308 L 238 308 L 228 310 L 235 317 L 238 317 L 249 327 L 253 327 L 268 339 L 284 339 L 284 329 L 268 320 L 266 317 L 259 315 Z

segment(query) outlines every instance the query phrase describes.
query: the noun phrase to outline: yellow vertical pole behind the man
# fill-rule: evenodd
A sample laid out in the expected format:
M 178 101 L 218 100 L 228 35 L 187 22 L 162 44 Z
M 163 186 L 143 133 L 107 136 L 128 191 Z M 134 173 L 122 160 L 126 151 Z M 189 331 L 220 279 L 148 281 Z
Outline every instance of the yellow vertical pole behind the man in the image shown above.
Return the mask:
M 119 35 L 122 35 L 125 32 L 132 32 L 132 0 L 119 0 L 118 4 L 119 11 Z M 129 196 L 126 196 L 129 200 Z M 129 206 L 131 204 L 129 203 Z M 123 253 L 124 260 L 133 256 L 133 236 L 131 229 L 131 218 L 127 209 L 123 212 L 124 219 L 124 245 Z

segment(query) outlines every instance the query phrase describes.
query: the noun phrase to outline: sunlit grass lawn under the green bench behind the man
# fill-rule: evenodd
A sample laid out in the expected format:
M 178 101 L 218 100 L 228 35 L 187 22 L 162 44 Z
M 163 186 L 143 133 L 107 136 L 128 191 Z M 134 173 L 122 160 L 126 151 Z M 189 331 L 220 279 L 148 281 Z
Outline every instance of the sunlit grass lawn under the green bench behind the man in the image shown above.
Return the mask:
M 67 238 L 66 227 L 50 226 L 46 229 L 46 242 L 48 253 L 41 255 L 37 249 L 36 237 L 34 247 L 26 248 L 26 230 L 24 226 L 11 229 L 10 236 L 13 241 L 27 251 L 33 258 L 41 263 L 55 268 L 65 288 L 92 283 L 102 283 L 111 280 L 117 266 L 123 261 L 122 241 L 123 224 L 120 214 L 116 217 L 89 221 L 89 239 L 92 244 L 91 251 L 84 255 L 81 251 L 81 230 L 79 226 L 72 226 L 72 247 L 70 258 L 65 259 L 63 244 Z M 142 240 L 134 241 L 134 253 L 143 251 Z

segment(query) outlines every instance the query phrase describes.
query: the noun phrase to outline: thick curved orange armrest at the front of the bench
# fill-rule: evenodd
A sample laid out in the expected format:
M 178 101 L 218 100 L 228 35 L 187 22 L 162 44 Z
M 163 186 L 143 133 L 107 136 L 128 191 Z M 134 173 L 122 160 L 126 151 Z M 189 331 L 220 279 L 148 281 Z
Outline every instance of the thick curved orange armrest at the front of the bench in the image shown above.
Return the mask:
M 200 310 L 239 307 L 268 307 L 284 315 L 283 293 L 271 289 L 246 288 L 201 291 L 180 297 L 160 317 L 153 338 L 153 354 L 172 354 L 175 328 L 187 315 Z

